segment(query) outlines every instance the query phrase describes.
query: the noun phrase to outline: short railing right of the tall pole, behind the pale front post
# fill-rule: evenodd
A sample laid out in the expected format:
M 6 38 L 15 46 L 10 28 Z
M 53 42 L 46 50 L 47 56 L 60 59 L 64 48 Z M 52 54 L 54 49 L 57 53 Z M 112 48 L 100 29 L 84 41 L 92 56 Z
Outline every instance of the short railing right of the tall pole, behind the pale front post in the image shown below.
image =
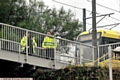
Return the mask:
M 112 66 L 113 67 L 120 67 L 120 55 L 113 52 L 113 49 L 120 46 L 120 43 L 112 43 L 112 44 L 105 44 L 98 46 L 98 65 L 99 66 L 108 66 L 109 67 L 109 47 L 111 48 L 112 52 Z

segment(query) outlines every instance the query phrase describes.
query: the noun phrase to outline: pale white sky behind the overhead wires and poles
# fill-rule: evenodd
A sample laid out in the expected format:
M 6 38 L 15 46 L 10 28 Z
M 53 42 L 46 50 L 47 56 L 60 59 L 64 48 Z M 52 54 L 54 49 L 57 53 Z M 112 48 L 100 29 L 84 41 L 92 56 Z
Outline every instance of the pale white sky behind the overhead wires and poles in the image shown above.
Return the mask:
M 42 0 L 42 1 L 44 1 L 45 4 L 49 6 L 49 8 L 56 7 L 57 9 L 60 9 L 63 6 L 65 10 L 71 9 L 72 12 L 75 14 L 75 18 L 78 18 L 79 21 L 83 21 L 82 8 L 86 8 L 86 10 L 92 11 L 91 0 L 55 0 L 55 1 L 58 1 L 58 2 L 61 2 L 61 3 L 69 4 L 69 5 L 72 5 L 72 6 L 75 6 L 75 7 L 79 7 L 81 9 L 77 9 L 75 7 L 69 7 L 69 6 L 57 3 L 53 0 Z M 114 13 L 113 15 L 111 15 L 112 18 L 109 17 L 109 16 L 106 16 L 101 22 L 99 22 L 97 24 L 97 26 L 104 26 L 104 25 L 120 23 L 120 0 L 104 0 L 104 1 L 103 0 L 96 0 L 96 3 L 116 10 L 116 11 L 113 11 L 113 10 L 101 7 L 99 5 L 96 5 L 97 13 L 100 13 L 100 14 L 103 14 L 103 15 L 104 14 L 109 14 L 109 13 Z M 100 14 L 96 14 L 96 15 L 100 15 Z M 86 12 L 86 17 L 91 17 L 91 16 L 92 16 L 91 12 L 87 11 Z M 97 17 L 96 22 L 98 22 L 103 17 L 104 16 Z M 113 19 L 113 18 L 115 18 L 115 19 Z M 116 20 L 116 19 L 118 19 L 118 20 Z M 90 24 L 92 24 L 92 18 L 87 19 L 86 23 L 89 23 L 89 24 L 86 24 L 87 30 L 92 28 L 92 25 L 90 25 Z M 109 29 L 111 27 L 113 27 L 113 26 L 109 26 L 109 27 L 106 27 L 106 28 Z M 116 31 L 120 32 L 119 27 L 120 27 L 120 25 L 113 28 L 113 30 L 116 30 Z

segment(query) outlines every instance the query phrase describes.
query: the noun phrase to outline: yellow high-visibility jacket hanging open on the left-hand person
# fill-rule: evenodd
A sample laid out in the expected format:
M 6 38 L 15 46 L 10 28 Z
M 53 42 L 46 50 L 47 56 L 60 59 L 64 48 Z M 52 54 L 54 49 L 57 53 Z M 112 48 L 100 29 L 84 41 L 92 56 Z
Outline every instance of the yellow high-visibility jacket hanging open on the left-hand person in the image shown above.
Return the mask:
M 21 51 L 23 51 L 26 47 L 26 36 L 24 36 L 22 39 L 21 39 L 21 42 L 20 42 L 20 45 L 21 45 Z M 33 45 L 33 52 L 35 53 L 35 46 L 37 46 L 37 43 L 35 42 L 35 38 L 33 37 L 32 38 L 32 45 Z

